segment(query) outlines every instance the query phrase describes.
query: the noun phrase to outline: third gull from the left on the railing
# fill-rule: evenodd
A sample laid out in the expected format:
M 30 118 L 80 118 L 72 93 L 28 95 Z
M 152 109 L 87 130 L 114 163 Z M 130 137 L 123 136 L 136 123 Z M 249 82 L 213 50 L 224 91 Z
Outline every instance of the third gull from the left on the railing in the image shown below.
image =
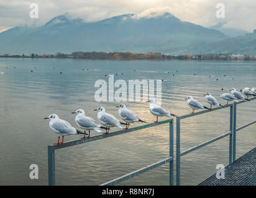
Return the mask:
M 97 117 L 99 121 L 101 122 L 101 124 L 107 127 L 106 132 L 104 134 L 109 133 L 109 127 L 117 126 L 121 129 L 124 129 L 124 127 L 121 124 L 126 125 L 126 123 L 121 123 L 119 122 L 118 119 L 116 119 L 115 116 L 113 116 L 112 114 L 106 113 L 105 108 L 103 106 L 100 106 L 98 109 L 94 111 L 98 111 Z

